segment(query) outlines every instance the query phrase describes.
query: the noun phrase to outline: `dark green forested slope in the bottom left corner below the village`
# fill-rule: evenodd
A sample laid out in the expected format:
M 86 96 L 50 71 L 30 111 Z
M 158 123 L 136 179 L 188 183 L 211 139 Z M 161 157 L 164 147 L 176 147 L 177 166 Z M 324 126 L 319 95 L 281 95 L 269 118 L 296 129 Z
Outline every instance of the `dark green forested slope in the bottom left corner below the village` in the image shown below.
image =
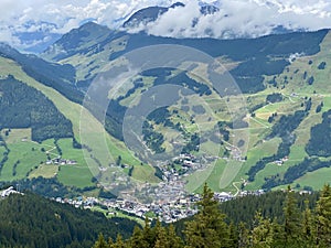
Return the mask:
M 136 224 L 30 193 L 0 198 L 0 247 L 24 248 L 90 247 L 98 233 L 128 237 Z

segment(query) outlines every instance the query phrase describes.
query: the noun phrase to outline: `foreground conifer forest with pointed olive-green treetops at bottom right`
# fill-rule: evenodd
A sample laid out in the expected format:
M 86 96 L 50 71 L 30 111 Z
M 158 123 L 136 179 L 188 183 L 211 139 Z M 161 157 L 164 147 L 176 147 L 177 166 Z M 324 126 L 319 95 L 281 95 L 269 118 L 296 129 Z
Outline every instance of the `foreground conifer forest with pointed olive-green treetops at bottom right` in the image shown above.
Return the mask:
M 325 185 L 319 194 L 299 196 L 290 187 L 286 193 L 268 196 L 248 196 L 228 202 L 235 215 L 254 216 L 233 222 L 220 208 L 213 192 L 205 185 L 197 202 L 200 212 L 183 222 L 175 231 L 173 225 L 162 226 L 159 222 L 151 226 L 136 227 L 129 239 L 117 235 L 116 240 L 99 235 L 93 248 L 218 248 L 218 247 L 330 247 L 331 246 L 331 187 Z M 255 198 L 254 198 L 255 197 Z M 269 198 L 268 198 L 269 197 Z M 247 201 L 248 200 L 248 201 Z M 241 202 L 242 201 L 242 202 Z M 247 202 L 250 204 L 245 205 Z M 260 204 L 256 204 L 260 202 Z M 266 214 L 267 206 L 281 206 L 278 216 Z M 226 205 L 226 203 L 225 203 Z M 247 207 L 245 209 L 245 207 Z M 244 207 L 244 208 L 242 208 Z M 254 209 L 254 207 L 257 207 Z M 264 208 L 264 212 L 261 211 Z M 227 208 L 229 209 L 229 208 Z M 239 212 L 237 212 L 239 211 Z M 274 213 L 275 214 L 275 213 Z M 246 216 L 247 217 L 247 216 Z M 249 219 L 252 218 L 252 219 Z M 229 222 L 228 222 L 229 220 Z

